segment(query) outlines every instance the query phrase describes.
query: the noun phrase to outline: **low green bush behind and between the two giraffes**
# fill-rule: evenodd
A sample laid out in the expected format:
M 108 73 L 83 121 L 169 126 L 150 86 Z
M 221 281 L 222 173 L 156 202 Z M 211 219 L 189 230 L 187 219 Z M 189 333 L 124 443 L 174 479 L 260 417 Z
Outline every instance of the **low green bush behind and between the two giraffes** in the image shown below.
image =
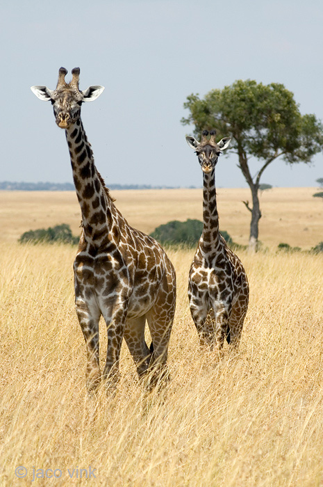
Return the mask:
M 186 221 L 173 220 L 159 225 L 150 235 L 163 245 L 185 245 L 194 247 L 197 245 L 203 231 L 203 222 L 199 220 Z M 221 232 L 227 244 L 232 245 L 233 241 L 228 232 Z

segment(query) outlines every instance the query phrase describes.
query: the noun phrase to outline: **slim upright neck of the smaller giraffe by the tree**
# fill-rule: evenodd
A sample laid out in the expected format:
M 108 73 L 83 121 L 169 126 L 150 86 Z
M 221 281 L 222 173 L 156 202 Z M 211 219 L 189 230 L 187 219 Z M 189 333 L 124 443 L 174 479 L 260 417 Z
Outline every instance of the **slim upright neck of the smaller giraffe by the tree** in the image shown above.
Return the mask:
M 220 244 L 215 169 L 210 173 L 203 173 L 203 233 L 201 243 L 206 251 L 215 249 Z

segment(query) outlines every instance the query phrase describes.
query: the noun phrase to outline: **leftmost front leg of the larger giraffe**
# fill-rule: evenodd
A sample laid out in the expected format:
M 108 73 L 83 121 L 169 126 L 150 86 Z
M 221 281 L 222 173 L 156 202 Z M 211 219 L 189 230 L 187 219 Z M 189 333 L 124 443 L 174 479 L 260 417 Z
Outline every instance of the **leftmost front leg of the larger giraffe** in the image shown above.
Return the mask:
M 99 387 L 101 378 L 99 365 L 99 319 L 101 313 L 81 298 L 76 298 L 75 308 L 83 332 L 88 358 L 85 373 L 86 388 L 89 393 L 95 392 Z

